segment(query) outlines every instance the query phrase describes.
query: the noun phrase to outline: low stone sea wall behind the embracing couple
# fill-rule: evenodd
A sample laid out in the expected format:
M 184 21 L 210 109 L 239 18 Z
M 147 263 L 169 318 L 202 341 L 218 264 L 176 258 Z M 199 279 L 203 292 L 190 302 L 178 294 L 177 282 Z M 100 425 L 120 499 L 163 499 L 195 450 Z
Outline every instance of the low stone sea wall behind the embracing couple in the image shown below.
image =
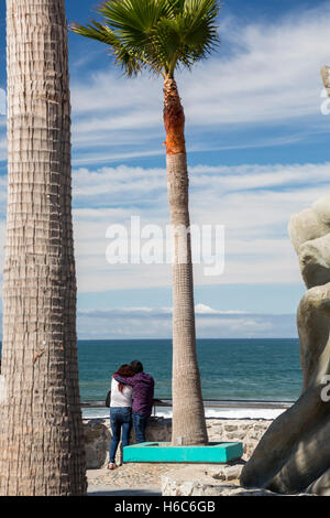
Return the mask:
M 272 423 L 272 420 L 255 419 L 220 419 L 208 418 L 207 428 L 211 442 L 243 442 L 244 455 L 248 460 L 252 455 L 256 444 Z M 85 419 L 85 445 L 87 455 L 87 468 L 100 468 L 109 461 L 109 446 L 111 430 L 109 419 Z M 170 441 L 172 420 L 166 418 L 151 418 L 146 429 L 146 440 L 155 442 Z M 131 434 L 131 443 L 135 442 L 134 432 Z M 121 451 L 117 454 L 117 463 L 121 463 Z

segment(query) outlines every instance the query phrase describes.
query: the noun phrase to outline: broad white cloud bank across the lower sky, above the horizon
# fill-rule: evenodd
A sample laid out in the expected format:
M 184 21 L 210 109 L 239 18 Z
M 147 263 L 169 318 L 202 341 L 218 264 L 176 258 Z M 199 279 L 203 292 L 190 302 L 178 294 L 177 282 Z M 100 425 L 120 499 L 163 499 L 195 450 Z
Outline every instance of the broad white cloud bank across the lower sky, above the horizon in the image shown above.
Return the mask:
M 191 223 L 226 227 L 224 273 L 206 277 L 206 265 L 195 265 L 196 285 L 300 282 L 287 223 L 328 190 L 329 171 L 330 163 L 190 168 Z M 4 177 L 0 182 L 4 201 Z M 131 265 L 130 257 L 128 265 L 106 260 L 111 242 L 107 228 L 123 225 L 130 236 L 131 216 L 140 216 L 141 228 L 158 225 L 165 236 L 169 222 L 165 170 L 78 169 L 74 199 L 80 292 L 170 285 L 168 263 Z

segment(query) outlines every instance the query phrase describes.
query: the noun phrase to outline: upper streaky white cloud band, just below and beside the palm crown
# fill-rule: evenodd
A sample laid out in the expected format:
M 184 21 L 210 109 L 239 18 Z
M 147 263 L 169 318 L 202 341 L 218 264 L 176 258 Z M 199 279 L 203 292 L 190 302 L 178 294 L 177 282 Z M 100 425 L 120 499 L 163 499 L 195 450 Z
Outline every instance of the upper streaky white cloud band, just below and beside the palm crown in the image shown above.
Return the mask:
M 222 54 L 220 46 L 219 53 L 198 64 L 193 74 L 178 75 L 188 128 L 231 131 L 239 125 L 255 127 L 299 119 L 296 134 L 251 142 L 246 132 L 245 140 L 241 137 L 239 143 L 219 144 L 219 149 L 278 145 L 306 139 L 320 128 L 329 131 L 328 118 L 320 115 L 319 72 L 329 58 L 324 45 L 329 24 L 330 8 L 323 6 L 296 11 L 273 24 L 256 21 L 244 25 L 233 18 L 221 19 L 220 34 L 230 54 Z M 76 163 L 161 154 L 162 104 L 161 78 L 127 79 L 110 65 L 84 84 L 74 77 Z M 125 145 L 125 150 L 111 153 L 109 147 L 113 145 Z M 212 148 L 211 142 L 208 145 Z M 86 147 L 88 152 L 80 154 Z M 91 151 L 99 147 L 108 151 Z

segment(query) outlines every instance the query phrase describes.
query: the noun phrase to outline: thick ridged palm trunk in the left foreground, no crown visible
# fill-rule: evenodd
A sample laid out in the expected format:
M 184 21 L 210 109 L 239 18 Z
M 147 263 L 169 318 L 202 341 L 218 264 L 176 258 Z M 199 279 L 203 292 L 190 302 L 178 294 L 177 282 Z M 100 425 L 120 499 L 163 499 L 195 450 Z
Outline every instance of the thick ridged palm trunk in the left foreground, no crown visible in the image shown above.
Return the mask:
M 82 495 L 64 0 L 7 0 L 0 494 Z

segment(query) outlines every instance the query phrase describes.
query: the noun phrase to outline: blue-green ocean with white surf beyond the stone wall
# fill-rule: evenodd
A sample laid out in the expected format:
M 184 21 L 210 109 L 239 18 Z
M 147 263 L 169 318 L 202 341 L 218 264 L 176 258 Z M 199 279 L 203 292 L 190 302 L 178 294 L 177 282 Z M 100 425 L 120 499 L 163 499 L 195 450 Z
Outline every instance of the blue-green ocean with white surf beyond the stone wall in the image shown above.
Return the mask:
M 295 401 L 301 390 L 299 341 L 248 338 L 198 339 L 197 355 L 204 399 Z M 155 397 L 170 399 L 170 339 L 79 341 L 79 382 L 82 400 L 105 400 L 117 368 L 140 359 L 155 379 Z M 249 403 L 246 402 L 249 407 Z M 224 410 L 207 411 L 223 414 Z M 229 417 L 273 417 L 274 410 L 227 409 Z M 260 412 L 260 413 L 258 413 Z M 84 410 L 106 416 L 108 409 Z M 157 414 L 169 414 L 162 409 Z

